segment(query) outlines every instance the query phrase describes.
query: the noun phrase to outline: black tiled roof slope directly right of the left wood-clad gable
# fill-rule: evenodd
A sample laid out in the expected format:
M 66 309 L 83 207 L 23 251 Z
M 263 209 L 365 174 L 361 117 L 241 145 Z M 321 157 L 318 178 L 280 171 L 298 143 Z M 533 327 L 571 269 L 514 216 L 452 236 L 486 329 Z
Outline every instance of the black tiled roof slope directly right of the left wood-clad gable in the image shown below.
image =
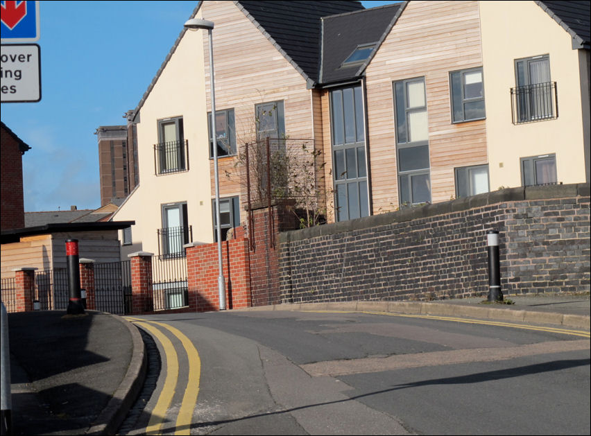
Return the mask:
M 320 19 L 363 10 L 359 1 L 234 1 L 295 69 L 318 81 Z

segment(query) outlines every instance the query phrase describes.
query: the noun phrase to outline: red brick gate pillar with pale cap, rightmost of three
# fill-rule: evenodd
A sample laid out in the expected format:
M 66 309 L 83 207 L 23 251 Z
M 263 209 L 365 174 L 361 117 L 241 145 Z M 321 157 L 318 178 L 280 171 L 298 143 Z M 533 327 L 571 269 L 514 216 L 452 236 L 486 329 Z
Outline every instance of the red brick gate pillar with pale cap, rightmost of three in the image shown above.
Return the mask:
M 153 253 L 136 252 L 128 254 L 131 261 L 132 314 L 153 311 L 152 297 L 152 256 Z

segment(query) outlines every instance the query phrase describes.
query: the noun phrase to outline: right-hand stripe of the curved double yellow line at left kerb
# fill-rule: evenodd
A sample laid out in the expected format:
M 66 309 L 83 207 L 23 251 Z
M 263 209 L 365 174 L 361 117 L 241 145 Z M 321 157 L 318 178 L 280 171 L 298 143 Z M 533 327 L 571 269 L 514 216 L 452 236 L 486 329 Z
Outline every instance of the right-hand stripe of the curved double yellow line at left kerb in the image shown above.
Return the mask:
M 126 317 L 126 320 L 132 322 L 143 321 L 138 322 L 138 324 L 144 324 L 145 322 L 149 322 L 151 324 L 162 326 L 165 329 L 168 329 L 171 333 L 173 333 L 173 335 L 175 335 L 180 340 L 182 346 L 185 347 L 185 351 L 187 351 L 187 359 L 189 360 L 189 377 L 187 380 L 185 394 L 182 397 L 180 410 L 177 415 L 175 435 L 189 435 L 191 431 L 191 423 L 193 421 L 193 410 L 197 403 L 197 397 L 199 394 L 199 383 L 201 374 L 201 360 L 199 358 L 197 349 L 195 348 L 191 340 L 189 340 L 189 338 L 187 338 L 187 336 L 184 333 L 182 333 L 178 329 L 175 329 L 173 326 L 169 326 L 168 324 L 164 324 L 162 322 L 148 321 L 143 320 L 142 318 L 135 317 Z

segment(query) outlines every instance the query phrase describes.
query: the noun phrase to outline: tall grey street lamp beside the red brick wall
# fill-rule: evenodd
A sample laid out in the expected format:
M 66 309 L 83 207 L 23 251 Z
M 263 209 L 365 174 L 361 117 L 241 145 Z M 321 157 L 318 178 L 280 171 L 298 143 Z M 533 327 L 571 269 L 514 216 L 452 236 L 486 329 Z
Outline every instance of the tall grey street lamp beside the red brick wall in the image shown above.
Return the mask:
M 189 30 L 207 29 L 209 37 L 209 78 L 212 80 L 212 139 L 214 148 L 214 173 L 216 179 L 216 223 L 218 236 L 218 290 L 220 300 L 220 310 L 225 311 L 225 279 L 223 277 L 222 249 L 221 249 L 221 221 L 220 221 L 220 181 L 218 175 L 218 146 L 216 138 L 216 92 L 214 85 L 214 46 L 212 43 L 212 30 L 214 23 L 206 19 L 191 18 L 185 23 L 185 28 Z M 208 139 L 209 142 L 209 139 Z

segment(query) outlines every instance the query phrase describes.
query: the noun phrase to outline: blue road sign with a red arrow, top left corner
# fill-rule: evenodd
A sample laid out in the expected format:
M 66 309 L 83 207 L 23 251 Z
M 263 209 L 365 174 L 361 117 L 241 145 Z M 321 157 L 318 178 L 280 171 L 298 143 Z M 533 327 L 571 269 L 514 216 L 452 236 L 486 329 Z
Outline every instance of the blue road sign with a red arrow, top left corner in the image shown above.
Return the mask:
M 39 40 L 39 1 L 9 1 L 0 3 L 0 33 L 2 44 L 28 43 Z

